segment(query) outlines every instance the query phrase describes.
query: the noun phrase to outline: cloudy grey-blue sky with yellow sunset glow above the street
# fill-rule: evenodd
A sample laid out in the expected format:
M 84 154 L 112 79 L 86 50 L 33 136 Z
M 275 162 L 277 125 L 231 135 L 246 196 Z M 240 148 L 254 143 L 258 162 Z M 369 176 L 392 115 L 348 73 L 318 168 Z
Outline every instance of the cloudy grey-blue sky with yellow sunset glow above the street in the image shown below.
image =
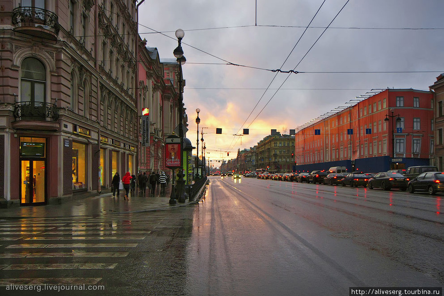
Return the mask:
M 200 108 L 219 166 L 371 89 L 428 90 L 444 72 L 443 11 L 443 0 L 147 0 L 139 34 L 171 59 L 185 31 L 187 138 L 195 146 Z

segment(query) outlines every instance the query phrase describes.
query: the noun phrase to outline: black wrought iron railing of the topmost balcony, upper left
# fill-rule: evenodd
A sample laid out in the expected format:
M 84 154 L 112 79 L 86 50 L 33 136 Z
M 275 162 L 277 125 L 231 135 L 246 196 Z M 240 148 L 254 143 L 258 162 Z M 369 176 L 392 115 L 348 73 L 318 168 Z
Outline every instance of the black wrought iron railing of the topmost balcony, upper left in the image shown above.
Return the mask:
M 60 31 L 57 14 L 37 7 L 17 7 L 12 11 L 12 24 L 21 27 L 42 26 L 50 28 L 58 35 Z

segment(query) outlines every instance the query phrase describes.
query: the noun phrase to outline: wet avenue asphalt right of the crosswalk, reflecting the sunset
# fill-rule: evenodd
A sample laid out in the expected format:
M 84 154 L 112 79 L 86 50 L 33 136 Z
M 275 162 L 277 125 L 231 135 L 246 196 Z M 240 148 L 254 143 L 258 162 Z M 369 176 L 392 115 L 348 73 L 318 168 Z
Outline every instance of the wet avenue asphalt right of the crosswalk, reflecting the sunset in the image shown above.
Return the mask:
M 441 197 L 213 177 L 194 214 L 187 295 L 348 295 L 442 287 Z

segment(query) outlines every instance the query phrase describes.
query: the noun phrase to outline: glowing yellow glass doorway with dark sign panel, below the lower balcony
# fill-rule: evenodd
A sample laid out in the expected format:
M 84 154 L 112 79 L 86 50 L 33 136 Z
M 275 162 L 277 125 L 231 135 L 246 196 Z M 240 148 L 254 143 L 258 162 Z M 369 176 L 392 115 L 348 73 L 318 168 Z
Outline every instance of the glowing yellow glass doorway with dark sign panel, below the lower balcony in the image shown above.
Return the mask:
M 46 139 L 20 137 L 20 204 L 46 200 Z

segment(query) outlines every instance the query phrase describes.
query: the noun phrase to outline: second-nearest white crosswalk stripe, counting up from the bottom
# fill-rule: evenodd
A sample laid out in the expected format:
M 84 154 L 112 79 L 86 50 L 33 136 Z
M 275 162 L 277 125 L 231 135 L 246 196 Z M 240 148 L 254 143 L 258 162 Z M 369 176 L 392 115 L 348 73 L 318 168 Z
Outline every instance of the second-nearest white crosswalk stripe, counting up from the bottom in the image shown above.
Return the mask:
M 10 264 L 2 270 L 29 269 L 113 269 L 117 263 L 54 263 L 54 264 Z M 0 268 L 1 269 L 1 268 Z

